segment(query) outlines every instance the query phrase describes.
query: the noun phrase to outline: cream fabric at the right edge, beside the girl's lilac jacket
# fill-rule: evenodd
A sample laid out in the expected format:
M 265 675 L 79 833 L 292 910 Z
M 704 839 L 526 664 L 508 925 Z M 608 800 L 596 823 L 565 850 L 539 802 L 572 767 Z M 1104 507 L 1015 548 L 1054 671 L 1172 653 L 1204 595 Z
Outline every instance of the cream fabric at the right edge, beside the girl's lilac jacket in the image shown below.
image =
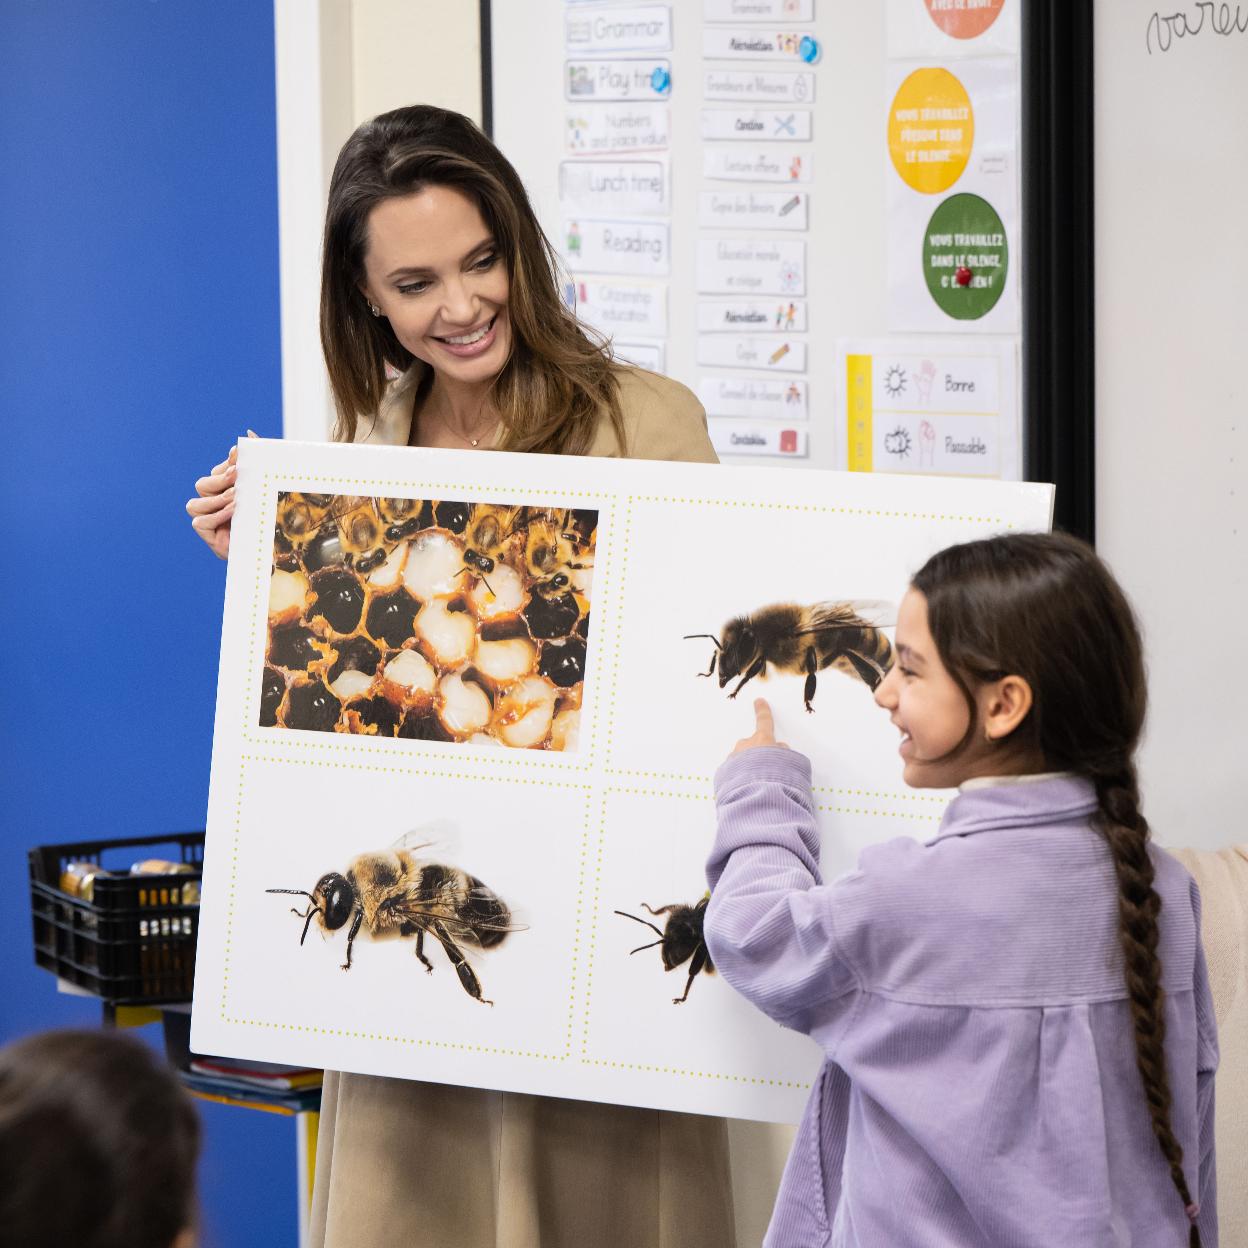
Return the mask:
M 1248 844 L 1171 850 L 1201 889 L 1201 942 L 1218 1020 L 1218 1241 L 1248 1244 Z

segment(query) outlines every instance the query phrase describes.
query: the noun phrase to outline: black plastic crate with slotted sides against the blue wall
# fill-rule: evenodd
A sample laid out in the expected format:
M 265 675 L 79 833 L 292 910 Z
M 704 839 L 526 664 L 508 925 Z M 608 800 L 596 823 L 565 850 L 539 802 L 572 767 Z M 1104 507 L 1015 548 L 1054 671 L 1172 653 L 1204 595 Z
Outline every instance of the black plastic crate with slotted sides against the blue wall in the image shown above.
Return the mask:
M 129 871 L 139 859 L 195 865 L 186 875 L 97 876 L 90 901 L 60 889 L 67 862 Z M 35 961 L 114 1005 L 190 1001 L 203 832 L 42 845 L 30 851 Z

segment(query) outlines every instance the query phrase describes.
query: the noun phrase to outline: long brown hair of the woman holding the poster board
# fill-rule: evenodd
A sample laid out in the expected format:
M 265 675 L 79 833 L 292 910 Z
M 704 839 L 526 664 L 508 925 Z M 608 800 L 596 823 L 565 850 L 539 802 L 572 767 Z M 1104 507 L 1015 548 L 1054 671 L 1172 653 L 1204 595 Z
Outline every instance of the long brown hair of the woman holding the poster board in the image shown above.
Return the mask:
M 383 200 L 426 186 L 449 186 L 480 211 L 507 263 L 512 352 L 493 382 L 499 449 L 583 454 L 603 419 L 624 449 L 624 418 L 610 347 L 592 341 L 559 297 L 559 265 L 515 170 L 458 112 L 413 105 L 366 121 L 338 154 L 329 183 L 321 263 L 321 346 L 338 409 L 334 436 L 353 441 L 361 417 L 374 417 L 386 366 L 422 364 L 384 317 L 369 313 L 361 283 L 368 215 Z

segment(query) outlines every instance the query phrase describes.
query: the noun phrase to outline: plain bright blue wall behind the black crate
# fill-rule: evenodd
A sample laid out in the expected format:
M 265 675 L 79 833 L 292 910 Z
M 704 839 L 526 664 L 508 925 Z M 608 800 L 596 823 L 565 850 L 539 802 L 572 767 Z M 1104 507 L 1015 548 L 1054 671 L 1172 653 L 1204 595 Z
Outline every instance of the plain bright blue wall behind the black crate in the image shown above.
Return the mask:
M 281 432 L 272 7 L 5 0 L 0 154 L 4 1042 L 100 1021 L 34 965 L 26 849 L 203 822 L 225 568 L 182 505 Z M 202 1117 L 205 1248 L 293 1244 L 292 1119 Z

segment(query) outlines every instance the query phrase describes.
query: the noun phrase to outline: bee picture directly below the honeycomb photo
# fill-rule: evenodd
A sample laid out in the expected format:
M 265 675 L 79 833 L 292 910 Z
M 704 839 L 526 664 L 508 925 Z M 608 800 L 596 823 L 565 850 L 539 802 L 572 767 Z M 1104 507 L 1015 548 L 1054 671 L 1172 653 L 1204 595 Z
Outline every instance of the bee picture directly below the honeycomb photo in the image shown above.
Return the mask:
M 303 920 L 301 946 L 313 919 L 329 932 L 338 931 L 349 920 L 347 961 L 342 963 L 344 971 L 351 970 L 352 945 L 361 926 L 364 926 L 373 936 L 387 932 L 416 936 L 416 956 L 432 975 L 433 963 L 424 956 L 424 936 L 428 932 L 446 950 L 464 992 L 487 1006 L 494 1002 L 482 996 L 480 981 L 459 943 L 493 948 L 507 938 L 508 932 L 522 930 L 512 922 L 507 904 L 474 875 L 456 866 L 418 859 L 407 849 L 361 854 L 351 861 L 346 875 L 328 871 L 317 880 L 311 892 L 306 889 L 265 891 L 308 899 L 306 911 L 291 909 L 291 914 Z

